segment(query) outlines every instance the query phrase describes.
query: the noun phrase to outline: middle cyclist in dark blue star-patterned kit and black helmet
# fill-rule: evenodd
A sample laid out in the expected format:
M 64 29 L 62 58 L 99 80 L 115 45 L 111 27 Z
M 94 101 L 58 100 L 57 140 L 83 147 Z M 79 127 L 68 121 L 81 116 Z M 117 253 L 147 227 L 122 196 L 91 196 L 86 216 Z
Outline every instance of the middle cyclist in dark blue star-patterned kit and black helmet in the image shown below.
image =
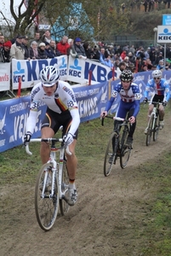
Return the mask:
M 111 93 L 111 99 L 107 102 L 105 111 L 100 116 L 104 118 L 111 108 L 111 105 L 117 99 L 117 95 L 121 96 L 119 107 L 117 108 L 116 116 L 125 119 L 128 114 L 130 123 L 130 131 L 127 138 L 127 145 L 131 146 L 133 143 L 133 135 L 136 127 L 136 116 L 140 111 L 140 88 L 138 84 L 133 83 L 133 73 L 125 69 L 120 75 L 121 82 L 114 85 Z M 114 128 L 117 120 L 114 121 Z

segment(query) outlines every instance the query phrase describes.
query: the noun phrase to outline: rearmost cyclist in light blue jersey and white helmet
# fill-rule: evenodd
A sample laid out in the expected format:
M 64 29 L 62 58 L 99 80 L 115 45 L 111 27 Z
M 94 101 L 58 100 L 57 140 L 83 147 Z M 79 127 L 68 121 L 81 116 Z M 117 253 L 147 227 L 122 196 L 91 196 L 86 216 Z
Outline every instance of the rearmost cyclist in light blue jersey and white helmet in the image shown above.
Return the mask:
M 153 95 L 151 96 L 151 101 L 149 104 L 148 120 L 154 108 L 154 105 L 151 104 L 151 102 L 162 102 L 162 104 L 159 106 L 160 129 L 162 129 L 164 126 L 164 107 L 167 106 L 168 100 L 170 98 L 170 88 L 167 80 L 162 79 L 161 70 L 154 70 L 152 72 L 152 79 L 148 81 L 145 87 L 144 102 L 148 101 L 148 94 L 151 90 L 153 92 Z M 147 127 L 145 128 L 145 134 L 146 133 L 147 133 Z

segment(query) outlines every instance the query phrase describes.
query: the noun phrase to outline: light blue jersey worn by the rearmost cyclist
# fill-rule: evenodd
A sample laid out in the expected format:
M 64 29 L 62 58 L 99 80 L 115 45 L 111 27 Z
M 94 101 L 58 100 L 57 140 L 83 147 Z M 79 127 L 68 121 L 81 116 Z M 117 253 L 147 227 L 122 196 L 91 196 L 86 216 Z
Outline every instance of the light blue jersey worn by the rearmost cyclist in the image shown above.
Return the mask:
M 154 79 L 150 79 L 145 87 L 144 96 L 148 98 L 149 91 L 153 90 L 157 96 L 164 96 L 163 102 L 168 102 L 170 98 L 170 87 L 166 79 L 160 79 L 159 83 L 156 83 Z

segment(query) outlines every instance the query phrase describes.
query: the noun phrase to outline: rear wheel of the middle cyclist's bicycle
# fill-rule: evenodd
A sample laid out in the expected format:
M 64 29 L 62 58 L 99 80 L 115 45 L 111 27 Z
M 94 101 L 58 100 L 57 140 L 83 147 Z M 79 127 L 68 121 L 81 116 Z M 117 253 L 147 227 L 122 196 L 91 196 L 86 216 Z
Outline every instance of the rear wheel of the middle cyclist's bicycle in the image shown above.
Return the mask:
M 123 131 L 123 137 L 121 140 L 121 155 L 120 155 L 120 166 L 124 169 L 129 160 L 131 154 L 132 146 L 128 147 L 125 145 L 128 136 L 128 131 Z

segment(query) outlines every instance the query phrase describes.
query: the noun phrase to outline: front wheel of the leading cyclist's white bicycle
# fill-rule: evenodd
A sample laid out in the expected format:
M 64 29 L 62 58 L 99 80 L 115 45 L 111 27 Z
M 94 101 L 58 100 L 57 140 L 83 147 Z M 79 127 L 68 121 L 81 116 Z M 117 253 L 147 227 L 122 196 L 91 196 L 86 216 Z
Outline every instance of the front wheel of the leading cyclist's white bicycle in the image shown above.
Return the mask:
M 45 180 L 46 172 L 48 172 L 48 175 Z M 45 231 L 53 227 L 59 207 L 57 177 L 55 177 L 54 180 L 54 195 L 51 195 L 52 174 L 51 164 L 44 164 L 38 172 L 35 188 L 35 212 L 37 222 L 41 229 Z

